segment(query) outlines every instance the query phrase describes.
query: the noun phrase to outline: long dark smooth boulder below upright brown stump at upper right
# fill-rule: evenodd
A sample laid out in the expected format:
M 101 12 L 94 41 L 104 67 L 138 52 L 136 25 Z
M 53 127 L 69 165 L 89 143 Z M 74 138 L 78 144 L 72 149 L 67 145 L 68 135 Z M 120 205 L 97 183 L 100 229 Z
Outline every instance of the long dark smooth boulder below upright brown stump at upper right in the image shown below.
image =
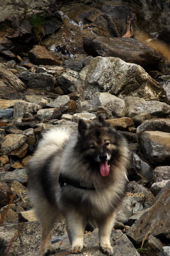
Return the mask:
M 106 40 L 105 37 L 100 36 L 93 40 L 85 40 L 83 48 L 94 57 L 117 57 L 143 68 L 157 66 L 162 58 L 159 53 L 133 38 L 107 38 Z

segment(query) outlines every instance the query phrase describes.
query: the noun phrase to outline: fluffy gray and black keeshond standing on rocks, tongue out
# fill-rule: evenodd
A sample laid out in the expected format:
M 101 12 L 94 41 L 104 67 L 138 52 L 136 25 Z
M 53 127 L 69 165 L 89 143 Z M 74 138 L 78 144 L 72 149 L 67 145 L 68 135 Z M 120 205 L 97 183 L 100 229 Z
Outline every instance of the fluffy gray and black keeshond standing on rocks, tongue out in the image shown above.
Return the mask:
M 110 244 L 116 209 L 128 183 L 125 138 L 99 116 L 79 120 L 78 129 L 57 127 L 47 131 L 30 163 L 29 191 L 42 227 L 42 255 L 55 252 L 51 245 L 54 222 L 64 217 L 70 253 L 80 253 L 87 223 L 99 228 L 103 253 Z

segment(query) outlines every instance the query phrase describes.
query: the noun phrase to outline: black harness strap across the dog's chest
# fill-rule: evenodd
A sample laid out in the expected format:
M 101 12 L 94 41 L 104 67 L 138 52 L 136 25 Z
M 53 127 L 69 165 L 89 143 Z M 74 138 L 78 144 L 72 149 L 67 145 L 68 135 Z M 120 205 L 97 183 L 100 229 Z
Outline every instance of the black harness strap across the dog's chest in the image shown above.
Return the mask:
M 72 180 L 71 178 L 62 175 L 61 173 L 59 175 L 59 185 L 61 188 L 70 185 L 78 189 L 95 190 L 94 187 L 81 186 L 78 180 Z

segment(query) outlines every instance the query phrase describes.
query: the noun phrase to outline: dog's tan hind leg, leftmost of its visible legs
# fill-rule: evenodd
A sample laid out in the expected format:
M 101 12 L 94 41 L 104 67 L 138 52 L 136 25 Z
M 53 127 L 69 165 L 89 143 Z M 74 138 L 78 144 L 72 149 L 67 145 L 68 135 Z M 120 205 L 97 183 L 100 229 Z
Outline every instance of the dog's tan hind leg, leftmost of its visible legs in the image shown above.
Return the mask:
M 55 253 L 55 249 L 51 244 L 51 233 L 57 219 L 57 209 L 50 204 L 43 205 L 42 202 L 38 208 L 36 212 L 42 228 L 40 255 L 47 256 Z

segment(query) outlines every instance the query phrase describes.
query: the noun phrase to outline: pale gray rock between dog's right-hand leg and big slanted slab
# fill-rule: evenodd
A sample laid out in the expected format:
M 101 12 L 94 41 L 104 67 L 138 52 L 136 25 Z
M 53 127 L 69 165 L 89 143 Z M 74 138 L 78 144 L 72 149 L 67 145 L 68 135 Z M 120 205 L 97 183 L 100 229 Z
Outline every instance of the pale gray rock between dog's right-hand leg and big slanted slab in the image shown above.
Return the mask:
M 118 212 L 116 213 L 116 220 L 126 224 L 128 219 L 143 210 L 142 198 L 138 196 L 128 196 L 123 198 Z

